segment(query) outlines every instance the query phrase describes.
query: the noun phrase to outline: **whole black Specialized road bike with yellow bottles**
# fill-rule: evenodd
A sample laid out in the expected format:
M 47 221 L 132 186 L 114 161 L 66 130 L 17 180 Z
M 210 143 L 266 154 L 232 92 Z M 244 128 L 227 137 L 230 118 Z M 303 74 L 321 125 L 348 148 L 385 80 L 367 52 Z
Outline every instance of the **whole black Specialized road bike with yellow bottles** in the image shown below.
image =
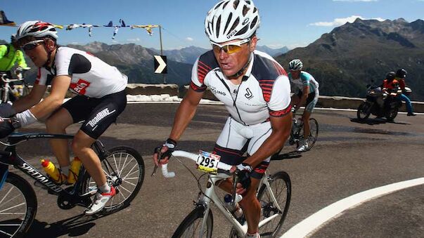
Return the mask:
M 74 136 L 49 133 L 12 133 L 4 150 L 0 150 L 0 237 L 22 237 L 30 228 L 37 213 L 37 197 L 30 183 L 16 173 L 8 171 L 13 166 L 27 174 L 50 194 L 58 196 L 60 209 L 75 206 L 89 207 L 96 194 L 96 183 L 81 167 L 77 181 L 70 187 L 62 187 L 25 161 L 16 151 L 16 145 L 34 139 L 64 139 Z M 139 192 L 144 179 L 143 158 L 131 147 L 113 147 L 106 150 L 100 140 L 91 146 L 101 160 L 103 171 L 110 185 L 116 188 L 115 196 L 98 214 L 107 215 L 129 206 Z

